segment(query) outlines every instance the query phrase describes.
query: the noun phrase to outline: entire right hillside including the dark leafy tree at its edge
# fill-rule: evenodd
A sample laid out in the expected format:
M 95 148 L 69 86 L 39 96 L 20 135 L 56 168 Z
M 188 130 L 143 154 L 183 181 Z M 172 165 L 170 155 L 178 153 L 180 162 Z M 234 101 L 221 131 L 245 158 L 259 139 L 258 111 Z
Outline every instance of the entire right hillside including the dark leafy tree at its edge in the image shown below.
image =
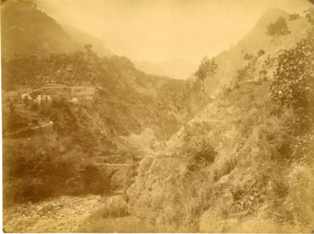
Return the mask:
M 129 189 L 134 213 L 158 232 L 310 233 L 313 38 L 311 29 L 250 59 L 232 88 L 144 158 Z

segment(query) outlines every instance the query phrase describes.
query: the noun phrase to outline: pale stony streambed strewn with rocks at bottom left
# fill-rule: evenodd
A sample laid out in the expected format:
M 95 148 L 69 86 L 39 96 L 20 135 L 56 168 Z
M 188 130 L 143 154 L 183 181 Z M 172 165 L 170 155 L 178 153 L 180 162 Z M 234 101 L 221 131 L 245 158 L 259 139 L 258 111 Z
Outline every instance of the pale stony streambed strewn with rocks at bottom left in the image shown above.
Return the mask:
M 112 197 L 112 196 L 110 196 Z M 60 197 L 3 209 L 3 229 L 13 233 L 76 233 L 109 196 Z

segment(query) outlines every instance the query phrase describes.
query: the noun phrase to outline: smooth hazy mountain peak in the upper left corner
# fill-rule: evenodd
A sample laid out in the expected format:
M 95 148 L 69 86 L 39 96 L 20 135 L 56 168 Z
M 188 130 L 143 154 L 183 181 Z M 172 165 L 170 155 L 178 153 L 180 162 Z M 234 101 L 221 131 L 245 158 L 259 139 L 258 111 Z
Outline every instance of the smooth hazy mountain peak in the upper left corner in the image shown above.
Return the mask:
M 46 55 L 80 50 L 55 20 L 35 7 L 7 0 L 1 6 L 1 55 Z

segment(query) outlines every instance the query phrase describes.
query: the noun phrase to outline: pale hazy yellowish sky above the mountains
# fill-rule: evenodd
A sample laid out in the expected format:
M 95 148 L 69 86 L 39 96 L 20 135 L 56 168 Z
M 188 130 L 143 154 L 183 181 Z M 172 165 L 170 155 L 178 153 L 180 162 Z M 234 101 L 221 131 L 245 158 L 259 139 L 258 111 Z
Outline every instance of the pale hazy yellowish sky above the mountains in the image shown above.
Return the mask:
M 114 54 L 198 62 L 228 49 L 254 27 L 269 7 L 288 13 L 308 0 L 53 0 L 59 18 L 89 32 Z M 49 12 L 48 12 L 49 13 Z M 57 19 L 58 20 L 58 19 Z

